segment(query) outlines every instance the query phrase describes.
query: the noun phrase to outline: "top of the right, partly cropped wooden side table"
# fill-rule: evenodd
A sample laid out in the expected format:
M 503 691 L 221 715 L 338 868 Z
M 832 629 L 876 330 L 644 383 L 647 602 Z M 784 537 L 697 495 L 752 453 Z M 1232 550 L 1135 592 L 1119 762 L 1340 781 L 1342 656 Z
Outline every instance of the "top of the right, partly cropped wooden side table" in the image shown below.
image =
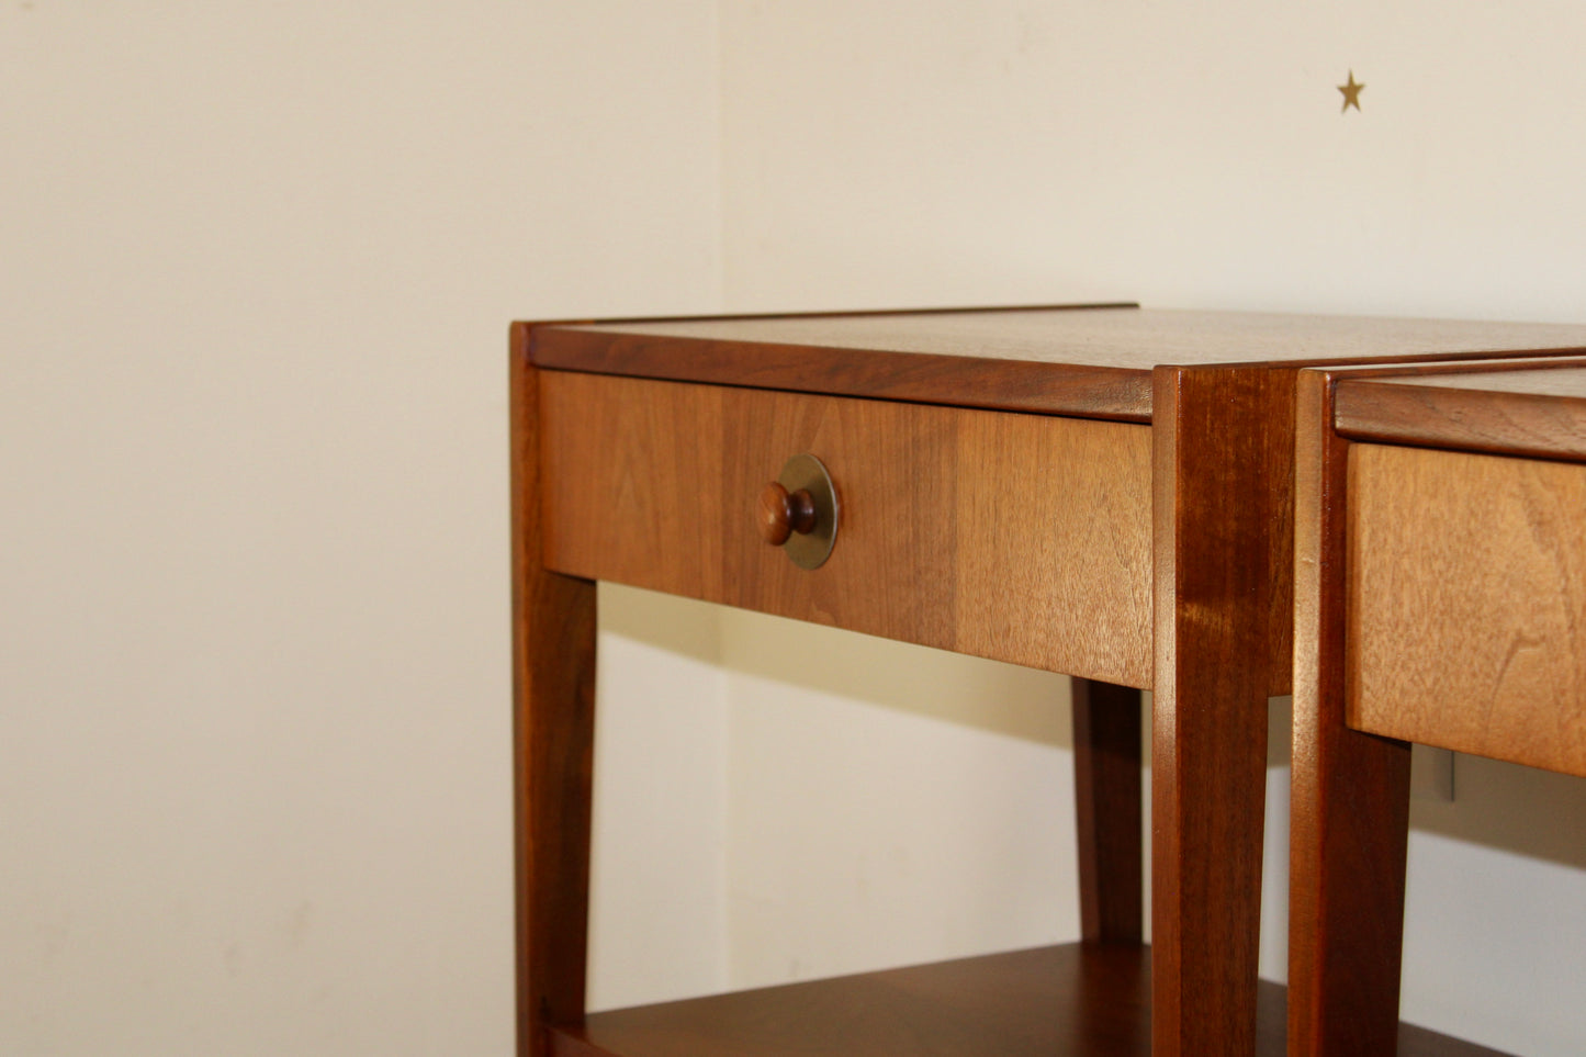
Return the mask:
M 1345 379 L 1335 424 L 1353 440 L 1586 462 L 1586 360 Z

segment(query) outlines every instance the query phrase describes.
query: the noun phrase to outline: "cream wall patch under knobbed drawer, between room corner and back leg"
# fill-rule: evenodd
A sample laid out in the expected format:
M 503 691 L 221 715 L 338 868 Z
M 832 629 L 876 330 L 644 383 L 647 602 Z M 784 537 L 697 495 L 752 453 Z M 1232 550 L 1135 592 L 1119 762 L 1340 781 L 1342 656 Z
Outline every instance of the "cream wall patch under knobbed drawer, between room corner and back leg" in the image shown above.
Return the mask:
M 734 986 L 1078 933 L 1067 679 L 723 611 Z

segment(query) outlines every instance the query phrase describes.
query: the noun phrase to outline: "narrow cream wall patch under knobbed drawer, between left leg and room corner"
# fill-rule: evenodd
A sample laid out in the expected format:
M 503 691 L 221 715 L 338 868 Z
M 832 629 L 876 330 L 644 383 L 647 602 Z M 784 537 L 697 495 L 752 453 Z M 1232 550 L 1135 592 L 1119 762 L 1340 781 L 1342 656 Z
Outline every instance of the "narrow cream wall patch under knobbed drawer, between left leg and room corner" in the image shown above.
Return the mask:
M 587 1001 L 728 990 L 728 673 L 718 606 L 600 586 Z

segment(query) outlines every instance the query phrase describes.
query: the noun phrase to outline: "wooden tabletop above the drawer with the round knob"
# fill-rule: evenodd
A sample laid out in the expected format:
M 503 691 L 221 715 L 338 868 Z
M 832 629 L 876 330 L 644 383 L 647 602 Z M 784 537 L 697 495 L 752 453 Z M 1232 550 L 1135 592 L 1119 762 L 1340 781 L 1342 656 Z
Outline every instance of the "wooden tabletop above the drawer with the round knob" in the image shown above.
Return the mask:
M 1586 352 L 1586 325 L 1075 306 L 542 324 L 539 367 L 1150 421 L 1158 365 Z

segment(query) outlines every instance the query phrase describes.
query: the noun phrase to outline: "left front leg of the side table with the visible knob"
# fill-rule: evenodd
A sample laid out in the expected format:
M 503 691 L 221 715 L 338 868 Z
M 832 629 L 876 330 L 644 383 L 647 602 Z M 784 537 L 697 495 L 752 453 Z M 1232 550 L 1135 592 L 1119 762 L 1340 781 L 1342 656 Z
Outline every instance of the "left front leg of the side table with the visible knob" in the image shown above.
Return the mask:
M 512 329 L 512 760 L 517 1052 L 584 1016 L 595 738 L 595 584 L 541 563 L 539 371 Z

